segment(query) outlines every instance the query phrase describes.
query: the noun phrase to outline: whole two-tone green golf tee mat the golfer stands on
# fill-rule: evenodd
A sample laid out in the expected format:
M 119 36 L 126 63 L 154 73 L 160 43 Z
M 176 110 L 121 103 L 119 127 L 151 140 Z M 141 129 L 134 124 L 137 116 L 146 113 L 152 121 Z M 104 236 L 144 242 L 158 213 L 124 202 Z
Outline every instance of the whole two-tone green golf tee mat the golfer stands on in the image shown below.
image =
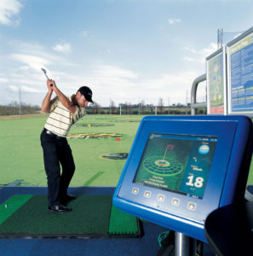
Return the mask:
M 140 237 L 138 218 L 112 205 L 112 195 L 79 195 L 72 212 L 49 212 L 47 195 L 13 195 L 0 205 L 0 238 Z

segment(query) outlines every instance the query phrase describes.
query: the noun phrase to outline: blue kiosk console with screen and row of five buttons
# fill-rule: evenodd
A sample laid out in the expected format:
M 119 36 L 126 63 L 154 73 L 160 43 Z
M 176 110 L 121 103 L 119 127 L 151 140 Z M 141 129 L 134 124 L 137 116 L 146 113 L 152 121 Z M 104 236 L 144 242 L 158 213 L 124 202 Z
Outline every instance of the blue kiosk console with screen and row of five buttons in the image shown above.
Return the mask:
M 113 204 L 206 242 L 210 212 L 244 200 L 251 154 L 252 122 L 245 116 L 147 116 Z

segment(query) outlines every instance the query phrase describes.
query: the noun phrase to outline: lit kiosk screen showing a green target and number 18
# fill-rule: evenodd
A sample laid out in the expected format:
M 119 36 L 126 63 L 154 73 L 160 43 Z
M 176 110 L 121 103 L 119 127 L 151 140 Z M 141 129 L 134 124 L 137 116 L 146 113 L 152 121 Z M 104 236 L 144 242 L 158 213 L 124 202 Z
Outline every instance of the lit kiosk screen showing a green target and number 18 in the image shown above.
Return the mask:
M 151 133 L 134 183 L 202 199 L 217 137 Z

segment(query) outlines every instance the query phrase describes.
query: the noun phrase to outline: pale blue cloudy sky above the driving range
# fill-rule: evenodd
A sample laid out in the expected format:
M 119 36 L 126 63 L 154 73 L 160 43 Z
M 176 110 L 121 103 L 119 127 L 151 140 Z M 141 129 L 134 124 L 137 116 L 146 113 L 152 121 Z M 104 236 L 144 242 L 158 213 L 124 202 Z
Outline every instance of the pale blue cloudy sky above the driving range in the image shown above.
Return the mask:
M 185 104 L 218 29 L 227 44 L 251 26 L 251 0 L 0 0 L 0 105 L 40 106 L 42 67 L 66 96 L 87 85 L 102 107 Z

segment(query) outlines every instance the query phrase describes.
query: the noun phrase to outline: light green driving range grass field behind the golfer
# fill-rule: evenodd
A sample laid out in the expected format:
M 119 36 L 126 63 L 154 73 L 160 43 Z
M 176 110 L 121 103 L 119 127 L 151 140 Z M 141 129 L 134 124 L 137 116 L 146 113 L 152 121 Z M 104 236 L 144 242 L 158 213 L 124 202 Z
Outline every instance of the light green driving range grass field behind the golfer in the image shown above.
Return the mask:
M 69 134 L 117 133 L 123 136 L 119 142 L 115 137 L 69 138 L 76 164 L 71 186 L 116 186 L 125 160 L 106 160 L 101 155 L 129 153 L 142 117 L 86 115 L 73 125 Z M 23 180 L 23 186 L 47 185 L 40 145 L 40 133 L 46 119 L 42 116 L 0 120 L 0 185 L 16 180 Z M 248 183 L 253 183 L 252 164 Z

